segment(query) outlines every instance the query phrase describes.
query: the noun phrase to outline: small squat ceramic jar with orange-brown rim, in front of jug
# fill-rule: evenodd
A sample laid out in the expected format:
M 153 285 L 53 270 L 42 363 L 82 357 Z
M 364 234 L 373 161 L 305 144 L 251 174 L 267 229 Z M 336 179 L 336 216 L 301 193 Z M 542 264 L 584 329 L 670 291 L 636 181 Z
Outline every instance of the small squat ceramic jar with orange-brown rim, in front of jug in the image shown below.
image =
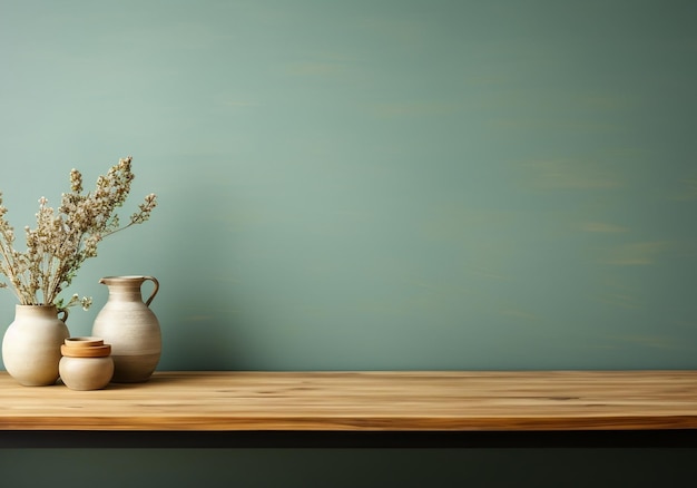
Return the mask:
M 69 338 L 61 345 L 60 379 L 71 390 L 100 390 L 114 375 L 111 345 L 99 338 Z

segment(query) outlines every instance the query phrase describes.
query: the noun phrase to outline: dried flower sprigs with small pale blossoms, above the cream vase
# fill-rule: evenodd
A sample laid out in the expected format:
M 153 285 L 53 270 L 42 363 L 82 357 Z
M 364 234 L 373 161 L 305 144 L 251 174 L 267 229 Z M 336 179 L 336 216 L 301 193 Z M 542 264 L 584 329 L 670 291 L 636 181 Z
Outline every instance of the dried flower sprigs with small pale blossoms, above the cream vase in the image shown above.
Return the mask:
M 58 214 L 45 197 L 39 199 L 37 227 L 24 227 L 24 252 L 13 247 L 14 230 L 4 218 L 8 209 L 0 192 L 0 272 L 7 276 L 20 304 L 55 304 L 58 310 L 77 304 L 85 310 L 89 308 L 90 297 L 79 299 L 73 294 L 65 302 L 58 295 L 70 285 L 82 263 L 97 255 L 97 244 L 102 238 L 150 217 L 157 205 L 155 194 L 147 195 L 130 222 L 120 226 L 116 209 L 126 202 L 134 177 L 131 157 L 122 158 L 107 175 L 97 178 L 94 192 L 84 195 L 82 175 L 72 169 L 70 193 L 62 194 Z M 8 284 L 0 282 L 0 287 Z

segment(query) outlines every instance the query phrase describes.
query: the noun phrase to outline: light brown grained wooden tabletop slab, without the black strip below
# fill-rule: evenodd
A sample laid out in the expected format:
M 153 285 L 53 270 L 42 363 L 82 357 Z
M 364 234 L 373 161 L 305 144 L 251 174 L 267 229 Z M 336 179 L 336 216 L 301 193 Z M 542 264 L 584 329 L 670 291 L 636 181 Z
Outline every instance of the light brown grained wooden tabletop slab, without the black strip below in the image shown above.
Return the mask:
M 0 372 L 0 430 L 697 429 L 697 371 L 156 372 L 73 391 Z

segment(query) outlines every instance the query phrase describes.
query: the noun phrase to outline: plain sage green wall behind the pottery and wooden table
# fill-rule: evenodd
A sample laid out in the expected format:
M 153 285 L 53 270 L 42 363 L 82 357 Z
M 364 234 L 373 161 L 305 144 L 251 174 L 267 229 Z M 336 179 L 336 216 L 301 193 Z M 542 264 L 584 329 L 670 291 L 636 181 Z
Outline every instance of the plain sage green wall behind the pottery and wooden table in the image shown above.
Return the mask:
M 2 0 L 0 189 L 134 156 L 160 369 L 696 368 L 695 6 Z

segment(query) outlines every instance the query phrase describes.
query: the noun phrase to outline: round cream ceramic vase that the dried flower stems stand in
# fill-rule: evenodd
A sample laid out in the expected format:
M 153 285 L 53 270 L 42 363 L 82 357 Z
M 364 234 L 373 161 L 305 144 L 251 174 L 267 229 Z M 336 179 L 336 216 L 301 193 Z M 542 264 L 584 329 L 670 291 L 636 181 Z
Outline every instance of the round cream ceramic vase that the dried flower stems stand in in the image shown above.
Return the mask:
M 56 305 L 16 305 L 14 321 L 2 339 L 4 369 L 20 384 L 46 387 L 58 380 L 60 347 L 70 336 Z

